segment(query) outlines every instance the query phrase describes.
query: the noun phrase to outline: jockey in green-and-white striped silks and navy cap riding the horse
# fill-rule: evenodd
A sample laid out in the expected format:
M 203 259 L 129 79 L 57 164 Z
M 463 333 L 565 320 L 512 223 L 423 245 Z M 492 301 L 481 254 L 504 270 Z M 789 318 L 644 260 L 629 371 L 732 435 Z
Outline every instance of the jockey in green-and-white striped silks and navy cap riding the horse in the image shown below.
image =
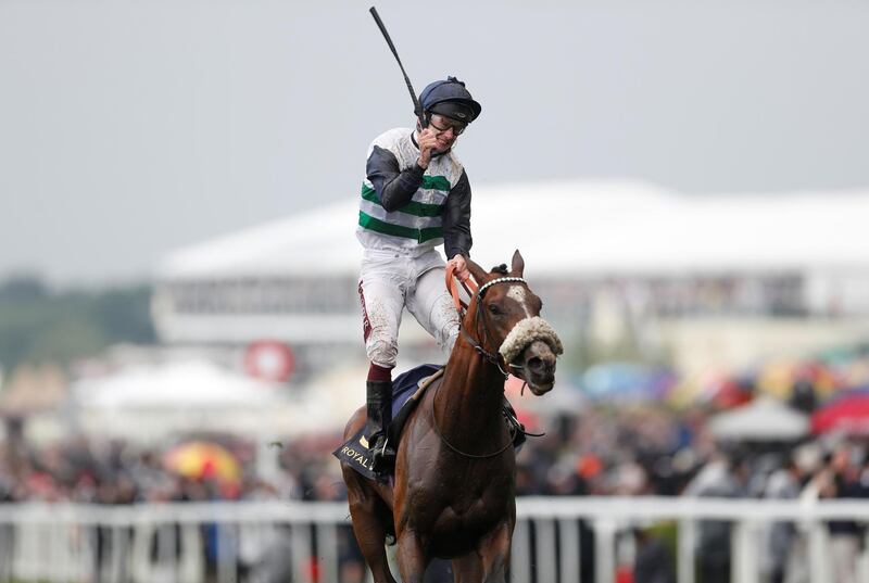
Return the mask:
M 415 130 L 391 129 L 369 147 L 356 228 L 365 248 L 358 292 L 370 362 L 364 433 L 378 472 L 395 456 L 387 428 L 402 312 L 452 351 L 459 318 L 436 248 L 444 245 L 459 279 L 469 277 L 470 183 L 453 147 L 482 107 L 455 77 L 428 85 L 419 104 L 425 127 L 417 121 Z

